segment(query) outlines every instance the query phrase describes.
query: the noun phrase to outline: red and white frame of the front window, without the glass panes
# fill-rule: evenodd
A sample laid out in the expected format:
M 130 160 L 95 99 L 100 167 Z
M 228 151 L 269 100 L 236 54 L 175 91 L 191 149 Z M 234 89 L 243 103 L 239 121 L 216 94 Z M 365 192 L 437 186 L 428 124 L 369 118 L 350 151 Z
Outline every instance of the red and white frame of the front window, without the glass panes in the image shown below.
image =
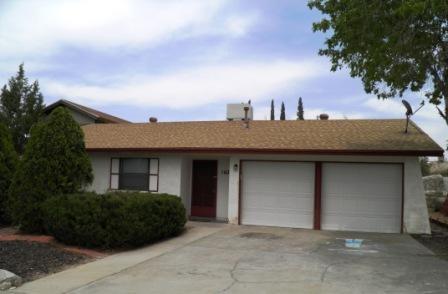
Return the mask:
M 146 189 L 145 190 L 129 190 L 129 189 L 122 189 L 122 184 L 121 184 L 121 176 L 123 174 L 127 174 L 130 175 L 132 173 L 123 173 L 123 160 L 125 159 L 145 159 L 148 161 L 147 165 L 147 172 L 145 173 L 145 176 L 147 178 L 147 185 L 146 185 Z M 117 172 L 113 172 L 112 167 L 113 167 L 113 161 L 114 160 L 118 160 L 118 173 Z M 155 169 L 155 173 L 151 172 L 151 161 L 157 161 L 155 163 L 155 165 L 157 166 Z M 135 173 L 137 174 L 137 173 Z M 141 174 L 141 173 L 138 173 Z M 112 177 L 113 176 L 118 176 L 118 188 L 114 189 L 112 188 Z M 151 178 L 156 178 L 156 183 L 155 183 L 155 189 L 151 190 Z M 113 190 L 113 191 L 145 191 L 145 192 L 159 192 L 159 177 L 160 177 L 160 158 L 158 157 L 111 157 L 110 159 L 110 171 L 109 171 L 109 190 Z

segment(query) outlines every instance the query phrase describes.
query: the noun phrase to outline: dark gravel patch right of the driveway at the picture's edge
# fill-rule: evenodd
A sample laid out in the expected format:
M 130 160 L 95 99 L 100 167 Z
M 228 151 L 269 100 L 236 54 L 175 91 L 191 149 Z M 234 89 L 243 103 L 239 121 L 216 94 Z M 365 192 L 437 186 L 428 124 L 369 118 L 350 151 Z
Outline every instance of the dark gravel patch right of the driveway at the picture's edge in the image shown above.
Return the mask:
M 434 254 L 448 260 L 448 227 L 431 222 L 432 235 L 412 235 Z

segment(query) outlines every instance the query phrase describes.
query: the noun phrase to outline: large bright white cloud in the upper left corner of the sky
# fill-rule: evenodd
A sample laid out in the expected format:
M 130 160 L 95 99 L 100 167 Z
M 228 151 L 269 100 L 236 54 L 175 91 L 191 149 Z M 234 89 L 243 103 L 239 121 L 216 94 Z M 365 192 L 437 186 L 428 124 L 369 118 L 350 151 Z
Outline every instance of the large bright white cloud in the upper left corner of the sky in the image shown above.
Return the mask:
M 204 34 L 244 35 L 254 13 L 221 13 L 226 1 L 10 1 L 0 11 L 0 56 L 47 56 L 77 46 L 107 50 L 155 46 Z

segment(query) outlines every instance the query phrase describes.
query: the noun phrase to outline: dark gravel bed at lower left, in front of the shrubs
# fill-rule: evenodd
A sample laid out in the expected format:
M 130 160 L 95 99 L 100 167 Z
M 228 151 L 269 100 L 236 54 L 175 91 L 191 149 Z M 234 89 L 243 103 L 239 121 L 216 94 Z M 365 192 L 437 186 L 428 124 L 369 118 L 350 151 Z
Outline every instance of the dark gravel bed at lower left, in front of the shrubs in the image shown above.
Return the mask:
M 29 241 L 1 241 L 0 269 L 6 269 L 30 281 L 89 260 L 55 246 Z

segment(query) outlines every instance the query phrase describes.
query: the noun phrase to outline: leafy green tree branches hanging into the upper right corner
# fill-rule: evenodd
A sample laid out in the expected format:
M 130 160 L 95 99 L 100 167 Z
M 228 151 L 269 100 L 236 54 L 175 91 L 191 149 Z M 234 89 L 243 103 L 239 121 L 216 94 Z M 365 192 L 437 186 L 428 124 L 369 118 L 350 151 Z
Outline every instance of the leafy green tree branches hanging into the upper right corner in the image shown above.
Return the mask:
M 311 0 L 328 32 L 320 55 L 347 66 L 378 98 L 423 92 L 448 124 L 448 1 Z

